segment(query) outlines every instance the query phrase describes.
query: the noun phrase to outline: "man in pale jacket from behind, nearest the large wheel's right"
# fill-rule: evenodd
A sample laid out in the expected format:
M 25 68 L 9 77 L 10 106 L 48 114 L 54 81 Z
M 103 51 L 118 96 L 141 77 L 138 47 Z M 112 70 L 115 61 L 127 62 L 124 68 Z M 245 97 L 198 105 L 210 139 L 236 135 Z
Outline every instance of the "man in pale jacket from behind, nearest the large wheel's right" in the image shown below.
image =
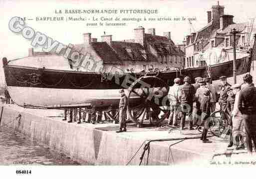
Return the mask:
M 170 101 L 170 116 L 168 118 L 168 124 L 177 126 L 177 118 L 178 118 L 178 107 L 180 106 L 179 101 L 179 87 L 180 87 L 181 79 L 175 78 L 174 85 L 170 87 L 168 92 L 168 99 Z

